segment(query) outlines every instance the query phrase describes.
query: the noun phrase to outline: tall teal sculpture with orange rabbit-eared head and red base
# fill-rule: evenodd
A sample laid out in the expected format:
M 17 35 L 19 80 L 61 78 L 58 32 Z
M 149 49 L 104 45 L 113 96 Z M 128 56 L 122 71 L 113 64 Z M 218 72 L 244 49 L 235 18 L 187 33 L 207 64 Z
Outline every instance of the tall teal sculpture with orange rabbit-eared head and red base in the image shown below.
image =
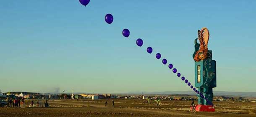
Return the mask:
M 213 92 L 216 87 L 216 61 L 212 60 L 212 51 L 208 50 L 209 31 L 202 28 L 198 31 L 198 37 L 195 40 L 195 52 L 193 58 L 195 60 L 195 87 L 204 97 L 198 95 L 198 105 L 196 111 L 214 112 L 212 106 Z M 200 43 L 197 43 L 199 40 Z

